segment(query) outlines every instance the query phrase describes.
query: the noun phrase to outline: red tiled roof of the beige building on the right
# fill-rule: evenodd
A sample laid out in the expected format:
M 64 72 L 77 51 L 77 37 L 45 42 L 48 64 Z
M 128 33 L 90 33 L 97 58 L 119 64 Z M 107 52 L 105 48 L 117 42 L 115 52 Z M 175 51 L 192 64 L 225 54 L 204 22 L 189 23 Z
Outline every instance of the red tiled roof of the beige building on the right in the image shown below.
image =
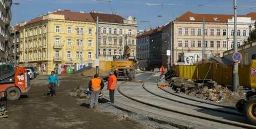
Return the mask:
M 190 11 L 184 13 L 181 17 L 178 17 L 174 21 L 196 21 L 202 22 L 203 17 L 205 22 L 227 22 L 227 19 L 232 19 L 233 14 L 196 14 Z M 248 13 L 247 15 L 237 15 L 237 17 L 251 17 L 256 19 L 256 13 Z

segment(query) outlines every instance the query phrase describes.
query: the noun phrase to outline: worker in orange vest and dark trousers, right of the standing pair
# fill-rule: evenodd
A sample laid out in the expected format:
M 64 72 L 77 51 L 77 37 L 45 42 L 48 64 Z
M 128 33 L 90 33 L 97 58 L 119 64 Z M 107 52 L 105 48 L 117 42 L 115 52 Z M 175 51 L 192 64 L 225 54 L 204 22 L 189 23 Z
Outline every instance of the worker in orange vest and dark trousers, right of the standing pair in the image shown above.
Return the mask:
M 108 90 L 109 90 L 109 98 L 111 103 L 114 103 L 116 83 L 117 83 L 117 79 L 114 75 L 114 72 L 110 71 L 109 78 L 108 78 Z

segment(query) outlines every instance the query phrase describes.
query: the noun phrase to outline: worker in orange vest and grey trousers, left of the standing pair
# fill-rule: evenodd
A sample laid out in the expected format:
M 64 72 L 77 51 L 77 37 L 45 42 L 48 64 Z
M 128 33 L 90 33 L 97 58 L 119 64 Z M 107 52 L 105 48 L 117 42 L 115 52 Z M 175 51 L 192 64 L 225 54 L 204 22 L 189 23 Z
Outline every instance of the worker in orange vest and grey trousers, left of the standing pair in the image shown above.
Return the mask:
M 89 81 L 88 88 L 91 91 L 91 102 L 90 109 L 96 108 L 98 105 L 100 90 L 103 89 L 104 83 L 101 79 L 98 78 L 99 75 L 96 73 L 94 78 Z

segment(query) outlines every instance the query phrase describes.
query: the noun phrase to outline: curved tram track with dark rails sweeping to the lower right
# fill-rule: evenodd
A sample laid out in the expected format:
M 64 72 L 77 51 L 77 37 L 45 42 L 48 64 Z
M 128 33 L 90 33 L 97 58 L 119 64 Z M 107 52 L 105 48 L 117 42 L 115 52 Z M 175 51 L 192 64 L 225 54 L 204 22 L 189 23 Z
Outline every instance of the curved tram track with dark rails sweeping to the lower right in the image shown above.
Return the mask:
M 216 108 L 217 105 L 214 105 L 215 108 L 209 108 L 209 107 L 204 107 L 204 106 L 202 106 L 200 104 L 197 104 L 197 105 L 196 104 L 189 104 L 189 103 L 186 103 L 186 102 L 177 101 L 175 99 L 171 99 L 171 98 L 165 97 L 163 95 L 156 94 L 156 93 L 152 92 L 150 89 L 148 89 L 146 87 L 146 85 L 148 85 L 147 80 L 143 82 L 143 85 L 140 88 L 143 88 L 143 90 L 146 90 L 150 94 L 150 95 L 149 94 L 145 95 L 148 98 L 155 98 L 157 96 L 157 97 L 160 97 L 162 100 L 165 100 L 165 101 L 163 101 L 163 103 L 165 103 L 165 105 L 166 105 L 166 103 L 174 103 L 175 102 L 174 105 L 177 104 L 177 103 L 179 103 L 179 105 L 184 104 L 184 105 L 181 105 L 181 106 L 188 107 L 188 109 L 192 109 L 192 110 L 202 110 L 203 109 L 203 110 L 205 110 L 203 112 L 213 112 L 213 114 L 214 113 L 217 113 L 217 114 L 225 113 L 226 116 L 229 116 L 229 119 L 232 119 L 232 118 L 238 118 L 238 119 L 236 119 L 236 121 L 234 122 L 234 121 L 229 120 L 229 119 L 222 119 L 221 117 L 210 117 L 209 115 L 200 115 L 200 114 L 197 114 L 195 112 L 194 113 L 188 113 L 188 112 L 185 112 L 185 111 L 182 111 L 182 110 L 177 110 L 177 107 L 173 108 L 173 109 L 172 108 L 168 108 L 168 107 L 165 107 L 163 103 L 161 103 L 159 105 L 156 105 L 156 104 L 154 104 L 154 102 L 149 102 L 149 101 L 143 100 L 141 97 L 138 97 L 137 94 L 134 95 L 134 96 L 129 95 L 129 93 L 125 91 L 126 90 L 125 86 L 127 85 L 125 83 L 121 84 L 117 88 L 117 90 L 118 90 L 118 92 L 121 95 L 123 95 L 124 97 L 129 98 L 130 100 L 133 100 L 133 101 L 136 101 L 136 102 L 139 102 L 139 103 L 142 103 L 142 104 L 145 104 L 145 105 L 148 105 L 150 107 L 157 108 L 157 109 L 162 109 L 162 110 L 170 111 L 170 112 L 176 112 L 176 113 L 180 113 L 180 114 L 185 115 L 185 116 L 190 116 L 190 117 L 210 120 L 212 122 L 223 123 L 223 124 L 227 124 L 227 125 L 233 125 L 233 126 L 238 126 L 238 127 L 243 127 L 243 128 L 255 128 L 255 126 L 248 125 L 246 123 L 246 120 L 243 117 L 243 115 L 241 115 L 238 112 L 235 112 L 235 110 L 233 110 L 233 109 L 229 109 L 229 108 L 225 108 L 225 107 L 220 107 L 220 108 L 222 108 L 222 110 L 220 110 L 220 109 Z M 157 86 L 155 85 L 155 87 L 157 87 Z M 139 88 L 137 90 L 135 89 L 135 91 L 139 91 L 139 90 L 141 90 L 141 89 L 139 89 Z M 183 99 L 185 99 L 185 98 L 183 98 Z M 152 99 L 151 101 L 156 101 L 156 100 Z M 199 102 L 197 102 L 197 103 L 199 103 Z M 204 104 L 206 104 L 206 103 L 204 103 Z M 196 107 L 196 108 L 193 109 L 193 107 Z M 241 120 L 239 120 L 239 119 L 241 119 Z

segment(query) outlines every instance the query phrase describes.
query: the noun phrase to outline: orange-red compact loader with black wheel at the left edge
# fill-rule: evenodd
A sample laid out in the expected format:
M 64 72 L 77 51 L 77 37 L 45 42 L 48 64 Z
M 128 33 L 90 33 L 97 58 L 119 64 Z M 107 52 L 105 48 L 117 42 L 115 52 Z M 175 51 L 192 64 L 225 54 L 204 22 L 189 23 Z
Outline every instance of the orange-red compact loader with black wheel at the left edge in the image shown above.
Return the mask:
M 21 93 L 30 89 L 30 76 L 25 67 L 15 67 L 12 63 L 0 63 L 1 97 L 17 100 Z M 6 92 L 6 94 L 4 94 Z

